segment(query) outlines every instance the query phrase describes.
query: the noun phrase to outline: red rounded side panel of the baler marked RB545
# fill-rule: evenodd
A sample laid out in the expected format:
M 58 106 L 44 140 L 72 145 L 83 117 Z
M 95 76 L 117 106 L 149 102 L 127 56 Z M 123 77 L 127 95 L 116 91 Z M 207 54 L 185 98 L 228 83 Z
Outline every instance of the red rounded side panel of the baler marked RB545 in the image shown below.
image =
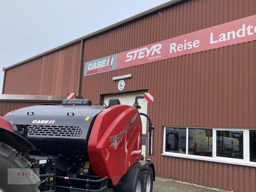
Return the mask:
M 141 159 L 142 123 L 137 108 L 115 105 L 95 119 L 88 141 L 93 171 L 116 185 Z

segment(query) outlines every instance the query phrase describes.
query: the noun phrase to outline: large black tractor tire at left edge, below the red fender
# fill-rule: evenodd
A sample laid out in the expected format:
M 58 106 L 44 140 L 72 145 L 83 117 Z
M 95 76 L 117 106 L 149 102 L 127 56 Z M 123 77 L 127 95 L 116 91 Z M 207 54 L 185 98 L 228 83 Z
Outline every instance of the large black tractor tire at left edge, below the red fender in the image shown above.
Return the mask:
M 30 167 L 31 164 L 15 149 L 0 142 L 0 192 L 38 192 L 40 180 L 37 176 L 26 177 L 26 184 L 8 184 L 8 168 Z

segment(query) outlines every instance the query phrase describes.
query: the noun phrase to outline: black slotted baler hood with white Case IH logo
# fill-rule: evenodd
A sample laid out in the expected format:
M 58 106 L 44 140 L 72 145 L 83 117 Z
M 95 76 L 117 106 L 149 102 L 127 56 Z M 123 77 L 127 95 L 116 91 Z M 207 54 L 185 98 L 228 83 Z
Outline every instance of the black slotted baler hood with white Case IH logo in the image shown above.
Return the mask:
M 4 117 L 28 124 L 28 141 L 36 149 L 58 153 L 85 152 L 96 116 L 108 106 L 35 105 Z

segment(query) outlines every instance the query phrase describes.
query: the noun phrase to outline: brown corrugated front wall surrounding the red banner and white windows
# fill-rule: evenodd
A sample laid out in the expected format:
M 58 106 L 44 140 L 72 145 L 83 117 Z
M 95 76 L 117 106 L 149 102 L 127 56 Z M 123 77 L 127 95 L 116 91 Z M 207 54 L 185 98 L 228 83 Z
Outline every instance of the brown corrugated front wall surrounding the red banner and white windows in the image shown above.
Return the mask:
M 84 62 L 256 14 L 254 0 L 191 0 L 86 39 Z M 81 95 L 99 102 L 119 92 L 148 89 L 156 127 L 156 175 L 234 191 L 254 191 L 255 168 L 162 156 L 163 126 L 255 127 L 256 41 L 82 78 Z

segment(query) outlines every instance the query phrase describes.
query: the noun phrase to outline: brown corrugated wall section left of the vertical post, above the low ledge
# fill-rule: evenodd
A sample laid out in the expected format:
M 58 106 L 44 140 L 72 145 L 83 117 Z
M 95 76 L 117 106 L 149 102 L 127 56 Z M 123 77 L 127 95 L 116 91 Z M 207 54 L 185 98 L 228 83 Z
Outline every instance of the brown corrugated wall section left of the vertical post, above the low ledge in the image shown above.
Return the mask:
M 76 92 L 80 44 L 6 70 L 4 94 L 58 95 Z

